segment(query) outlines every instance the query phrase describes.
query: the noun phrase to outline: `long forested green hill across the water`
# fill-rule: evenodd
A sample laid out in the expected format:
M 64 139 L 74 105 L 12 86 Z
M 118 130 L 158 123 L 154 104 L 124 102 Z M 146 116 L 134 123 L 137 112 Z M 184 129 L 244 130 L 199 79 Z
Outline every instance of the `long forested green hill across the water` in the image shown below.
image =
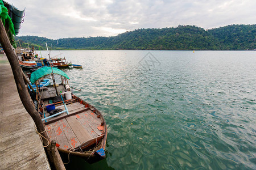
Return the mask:
M 68 35 L 67 35 L 68 36 Z M 195 25 L 174 28 L 136 29 L 113 37 L 82 37 L 52 40 L 37 36 L 16 37 L 17 46 L 35 49 L 133 49 L 133 50 L 253 50 L 256 24 L 228 25 L 205 30 Z

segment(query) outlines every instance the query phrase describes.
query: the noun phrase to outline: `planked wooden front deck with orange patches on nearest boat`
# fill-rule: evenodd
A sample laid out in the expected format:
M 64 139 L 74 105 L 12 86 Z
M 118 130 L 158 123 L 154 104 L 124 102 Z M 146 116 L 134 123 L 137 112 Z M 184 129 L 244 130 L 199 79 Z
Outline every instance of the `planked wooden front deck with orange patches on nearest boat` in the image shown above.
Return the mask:
M 64 110 L 64 105 L 56 105 Z M 69 115 L 62 113 L 50 118 L 46 125 L 47 133 L 51 140 L 55 139 L 60 148 L 65 150 L 75 148 L 90 139 L 101 136 L 104 130 L 102 120 L 89 108 L 80 103 L 67 104 Z M 49 113 L 46 112 L 46 117 Z

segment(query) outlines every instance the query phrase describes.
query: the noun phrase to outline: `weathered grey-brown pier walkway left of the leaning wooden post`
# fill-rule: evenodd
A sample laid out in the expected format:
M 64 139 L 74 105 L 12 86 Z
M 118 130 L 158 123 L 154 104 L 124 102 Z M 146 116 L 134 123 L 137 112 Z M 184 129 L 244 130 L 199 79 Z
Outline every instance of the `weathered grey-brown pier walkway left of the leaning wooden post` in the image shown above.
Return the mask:
M 3 54 L 0 54 L 0 169 L 51 169 Z

